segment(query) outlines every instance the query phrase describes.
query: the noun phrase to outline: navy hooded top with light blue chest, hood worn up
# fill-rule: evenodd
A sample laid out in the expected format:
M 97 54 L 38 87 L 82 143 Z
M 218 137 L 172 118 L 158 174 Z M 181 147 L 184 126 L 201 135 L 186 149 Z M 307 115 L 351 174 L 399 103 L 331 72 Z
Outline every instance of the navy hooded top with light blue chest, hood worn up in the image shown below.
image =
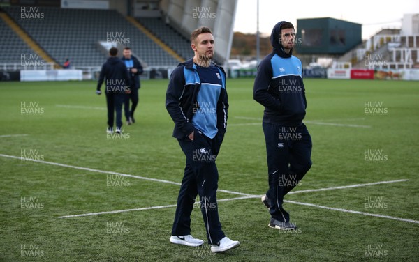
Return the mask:
M 272 53 L 265 56 L 258 66 L 253 99 L 265 107 L 263 122 L 297 126 L 304 119 L 307 108 L 302 64 L 292 55 L 292 50 L 289 54 L 284 52 L 279 40 L 282 22 L 272 29 Z

